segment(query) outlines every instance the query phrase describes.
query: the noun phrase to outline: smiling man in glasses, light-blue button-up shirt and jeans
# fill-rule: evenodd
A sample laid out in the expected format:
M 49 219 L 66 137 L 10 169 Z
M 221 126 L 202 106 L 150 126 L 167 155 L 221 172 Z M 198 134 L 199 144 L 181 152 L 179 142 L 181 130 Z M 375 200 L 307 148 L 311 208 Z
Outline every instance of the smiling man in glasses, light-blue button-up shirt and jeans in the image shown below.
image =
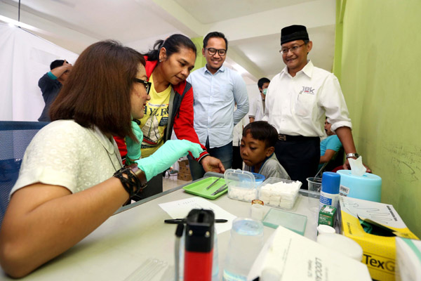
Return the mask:
M 232 132 L 248 112 L 246 83 L 238 72 L 223 66 L 228 41 L 221 32 L 203 39 L 206 66 L 187 78 L 194 89 L 194 129 L 209 154 L 221 160 L 225 169 L 232 165 Z M 237 109 L 234 110 L 236 104 Z M 193 180 L 205 171 L 189 157 Z

